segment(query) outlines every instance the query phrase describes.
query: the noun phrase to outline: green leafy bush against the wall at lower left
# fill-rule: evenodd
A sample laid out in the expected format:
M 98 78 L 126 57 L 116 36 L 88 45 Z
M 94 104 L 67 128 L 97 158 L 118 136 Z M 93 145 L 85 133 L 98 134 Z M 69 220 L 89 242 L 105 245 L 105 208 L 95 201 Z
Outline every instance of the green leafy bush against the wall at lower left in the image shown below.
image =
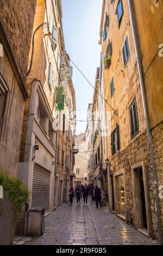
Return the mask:
M 22 181 L 9 175 L 7 170 L 0 169 L 0 185 L 3 186 L 5 199 L 12 204 L 14 220 L 17 219 L 22 212 L 22 207 L 29 202 L 30 192 Z M 3 214 L 3 206 L 1 205 L 1 215 Z

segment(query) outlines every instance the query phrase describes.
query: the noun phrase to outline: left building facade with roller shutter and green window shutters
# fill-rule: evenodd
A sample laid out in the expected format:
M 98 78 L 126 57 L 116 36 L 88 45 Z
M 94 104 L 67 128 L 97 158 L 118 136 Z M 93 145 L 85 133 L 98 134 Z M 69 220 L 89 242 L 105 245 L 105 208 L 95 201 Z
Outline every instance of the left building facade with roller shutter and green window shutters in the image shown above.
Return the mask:
M 29 209 L 43 208 L 45 215 L 67 202 L 73 169 L 74 130 L 69 125 L 67 131 L 66 125 L 71 118 L 74 123 L 76 103 L 61 17 L 61 1 L 37 0 L 18 170 L 18 178 L 31 192 Z M 67 112 L 72 113 L 68 123 Z M 26 231 L 24 212 L 17 233 L 25 235 Z

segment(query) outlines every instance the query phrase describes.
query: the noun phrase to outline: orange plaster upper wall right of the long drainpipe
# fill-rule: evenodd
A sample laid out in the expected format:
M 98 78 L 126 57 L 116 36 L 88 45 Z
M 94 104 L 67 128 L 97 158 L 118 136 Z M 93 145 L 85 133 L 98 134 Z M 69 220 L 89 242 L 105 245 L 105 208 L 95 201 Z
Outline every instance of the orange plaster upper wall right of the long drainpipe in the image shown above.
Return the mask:
M 145 82 L 148 115 L 151 128 L 163 120 L 163 2 L 134 0 L 135 27 Z

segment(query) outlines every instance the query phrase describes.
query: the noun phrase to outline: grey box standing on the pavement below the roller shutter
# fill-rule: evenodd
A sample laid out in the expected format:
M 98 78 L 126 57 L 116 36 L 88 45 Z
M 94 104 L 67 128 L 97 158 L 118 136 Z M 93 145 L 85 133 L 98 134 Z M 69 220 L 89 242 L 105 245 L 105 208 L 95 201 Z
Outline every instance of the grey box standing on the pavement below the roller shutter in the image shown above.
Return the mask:
M 45 226 L 45 209 L 32 208 L 28 212 L 27 235 L 39 236 L 43 234 Z

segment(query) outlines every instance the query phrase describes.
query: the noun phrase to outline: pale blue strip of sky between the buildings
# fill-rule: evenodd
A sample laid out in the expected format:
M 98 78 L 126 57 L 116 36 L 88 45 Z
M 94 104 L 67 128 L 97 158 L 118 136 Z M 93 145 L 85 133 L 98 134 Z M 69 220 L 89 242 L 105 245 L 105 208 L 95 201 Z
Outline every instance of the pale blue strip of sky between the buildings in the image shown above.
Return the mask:
M 62 11 L 66 51 L 94 86 L 101 53 L 98 41 L 102 0 L 62 0 Z M 75 67 L 73 86 L 76 91 L 77 120 L 86 120 L 93 88 Z M 77 122 L 76 134 L 84 132 L 85 128 L 86 122 Z

